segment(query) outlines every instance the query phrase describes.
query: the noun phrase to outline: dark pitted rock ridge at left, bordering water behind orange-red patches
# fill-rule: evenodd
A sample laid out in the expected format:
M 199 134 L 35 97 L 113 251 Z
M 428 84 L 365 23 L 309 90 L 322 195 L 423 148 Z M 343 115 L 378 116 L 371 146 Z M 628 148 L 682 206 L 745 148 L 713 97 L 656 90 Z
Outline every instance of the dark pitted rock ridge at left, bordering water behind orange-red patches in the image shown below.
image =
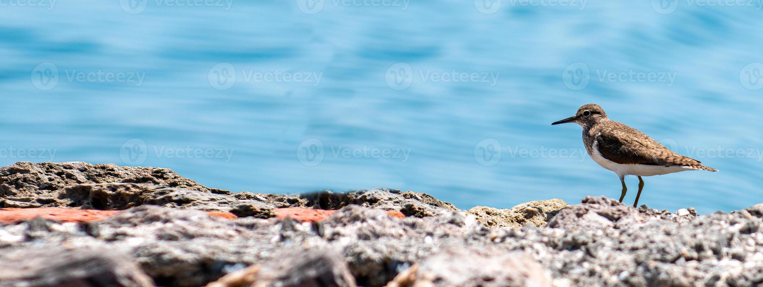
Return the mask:
M 291 196 L 230 193 L 204 187 L 169 169 L 157 167 L 17 162 L 0 168 L 0 208 L 50 206 L 123 210 L 143 204 L 233 211 L 260 218 L 273 215 L 272 209 L 277 208 L 340 209 L 351 204 L 419 217 L 458 210 L 426 193 L 400 190 L 322 191 Z

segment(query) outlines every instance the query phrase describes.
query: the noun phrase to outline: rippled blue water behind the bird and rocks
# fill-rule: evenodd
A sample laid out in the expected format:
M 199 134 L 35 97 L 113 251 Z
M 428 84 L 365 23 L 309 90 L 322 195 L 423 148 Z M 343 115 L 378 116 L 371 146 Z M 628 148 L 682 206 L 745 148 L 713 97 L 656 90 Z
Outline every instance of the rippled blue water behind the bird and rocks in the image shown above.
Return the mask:
M 720 169 L 645 177 L 640 203 L 763 202 L 755 2 L 143 1 L 0 2 L 0 164 L 169 167 L 259 193 L 389 187 L 462 209 L 575 203 L 620 196 L 581 128 L 550 125 L 596 103 Z

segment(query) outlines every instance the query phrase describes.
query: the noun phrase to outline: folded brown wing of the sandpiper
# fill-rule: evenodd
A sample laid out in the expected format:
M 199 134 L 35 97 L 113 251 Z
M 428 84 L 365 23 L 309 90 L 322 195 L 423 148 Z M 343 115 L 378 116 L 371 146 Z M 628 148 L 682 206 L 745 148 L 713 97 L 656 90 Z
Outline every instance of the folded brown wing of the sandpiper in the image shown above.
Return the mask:
M 620 124 L 622 125 L 622 124 Z M 697 165 L 692 158 L 671 151 L 644 133 L 629 126 L 601 129 L 596 136 L 598 151 L 618 164 Z

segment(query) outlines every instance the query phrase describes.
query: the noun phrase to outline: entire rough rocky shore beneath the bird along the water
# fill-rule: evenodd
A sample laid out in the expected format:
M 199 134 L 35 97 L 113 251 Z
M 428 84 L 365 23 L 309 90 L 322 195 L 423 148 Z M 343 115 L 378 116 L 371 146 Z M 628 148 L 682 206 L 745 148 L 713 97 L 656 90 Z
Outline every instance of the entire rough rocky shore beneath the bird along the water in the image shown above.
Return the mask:
M 2 286 L 753 286 L 763 205 L 601 196 L 512 209 L 425 193 L 230 193 L 166 168 L 0 168 Z

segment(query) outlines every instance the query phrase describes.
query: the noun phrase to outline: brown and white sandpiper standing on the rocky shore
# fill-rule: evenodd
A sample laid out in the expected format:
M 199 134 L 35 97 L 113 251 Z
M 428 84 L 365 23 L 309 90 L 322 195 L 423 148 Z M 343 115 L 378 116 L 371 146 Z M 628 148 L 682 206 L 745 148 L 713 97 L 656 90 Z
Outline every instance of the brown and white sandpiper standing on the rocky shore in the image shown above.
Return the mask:
M 641 190 L 644 189 L 644 180 L 641 177 L 678 171 L 718 171 L 702 165 L 693 158 L 678 155 L 643 132 L 610 120 L 607 113 L 597 104 L 584 104 L 575 116 L 552 125 L 559 123 L 577 123 L 583 127 L 583 143 L 588 155 L 600 166 L 614 171 L 620 177 L 620 183 L 623 183 L 620 202 L 623 202 L 628 190 L 625 186 L 625 176 L 639 177 L 639 193 L 636 194 L 633 207 L 639 203 Z

